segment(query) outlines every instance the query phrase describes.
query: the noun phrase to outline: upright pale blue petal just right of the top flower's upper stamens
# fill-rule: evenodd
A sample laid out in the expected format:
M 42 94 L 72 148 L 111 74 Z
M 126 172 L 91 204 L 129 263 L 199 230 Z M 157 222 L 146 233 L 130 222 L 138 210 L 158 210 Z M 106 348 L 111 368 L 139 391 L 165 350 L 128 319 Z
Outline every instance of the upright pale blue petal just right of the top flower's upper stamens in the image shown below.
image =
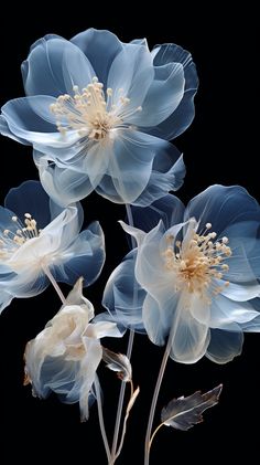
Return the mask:
M 123 95 L 130 98 L 127 110 L 136 109 L 142 105 L 153 77 L 152 57 L 147 46 L 124 44 L 108 75 L 108 87 L 113 89 L 113 103 L 117 105 Z

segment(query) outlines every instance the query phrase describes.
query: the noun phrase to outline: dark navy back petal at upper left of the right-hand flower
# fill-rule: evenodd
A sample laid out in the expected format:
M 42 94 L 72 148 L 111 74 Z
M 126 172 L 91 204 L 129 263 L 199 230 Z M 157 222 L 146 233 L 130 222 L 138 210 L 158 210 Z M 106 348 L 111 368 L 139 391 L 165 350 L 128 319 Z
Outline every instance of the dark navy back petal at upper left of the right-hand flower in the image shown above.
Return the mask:
M 165 230 L 172 224 L 181 223 L 184 214 L 184 204 L 175 195 L 165 195 L 152 205 L 141 208 L 132 207 L 133 224 L 142 231 L 149 232 L 162 220 Z

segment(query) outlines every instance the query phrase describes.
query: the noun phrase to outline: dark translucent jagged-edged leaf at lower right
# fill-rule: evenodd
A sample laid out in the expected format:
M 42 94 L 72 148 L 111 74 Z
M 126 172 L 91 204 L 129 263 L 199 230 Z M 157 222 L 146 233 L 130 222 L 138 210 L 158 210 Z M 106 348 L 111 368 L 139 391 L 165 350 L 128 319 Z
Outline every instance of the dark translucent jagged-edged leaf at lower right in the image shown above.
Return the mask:
M 196 423 L 203 422 L 202 413 L 218 403 L 223 384 L 217 385 L 212 391 L 202 394 L 201 391 L 187 398 L 173 399 L 162 410 L 161 420 L 165 426 L 176 430 L 187 431 Z

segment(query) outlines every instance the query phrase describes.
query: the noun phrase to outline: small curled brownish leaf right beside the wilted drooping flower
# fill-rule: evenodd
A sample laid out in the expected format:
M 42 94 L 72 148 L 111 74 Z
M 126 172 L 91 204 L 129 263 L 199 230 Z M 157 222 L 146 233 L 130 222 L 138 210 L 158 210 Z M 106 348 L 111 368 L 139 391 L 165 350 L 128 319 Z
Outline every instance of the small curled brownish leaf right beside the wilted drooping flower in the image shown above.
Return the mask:
M 102 360 L 107 363 L 109 370 L 117 371 L 121 381 L 130 382 L 132 380 L 132 367 L 127 356 L 112 352 L 104 347 Z

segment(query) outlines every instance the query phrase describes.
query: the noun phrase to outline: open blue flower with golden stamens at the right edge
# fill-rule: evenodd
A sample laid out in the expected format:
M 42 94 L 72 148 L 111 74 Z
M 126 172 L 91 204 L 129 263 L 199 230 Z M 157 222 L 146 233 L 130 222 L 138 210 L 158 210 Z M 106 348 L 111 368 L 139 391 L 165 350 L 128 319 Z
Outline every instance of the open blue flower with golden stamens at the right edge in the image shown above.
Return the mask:
M 176 361 L 232 360 L 243 331 L 260 331 L 258 202 L 240 187 L 213 186 L 186 209 L 166 195 L 132 212 L 142 230 L 122 223 L 138 247 L 106 286 L 109 318 L 138 330 L 142 319 L 152 342 L 171 338 Z

